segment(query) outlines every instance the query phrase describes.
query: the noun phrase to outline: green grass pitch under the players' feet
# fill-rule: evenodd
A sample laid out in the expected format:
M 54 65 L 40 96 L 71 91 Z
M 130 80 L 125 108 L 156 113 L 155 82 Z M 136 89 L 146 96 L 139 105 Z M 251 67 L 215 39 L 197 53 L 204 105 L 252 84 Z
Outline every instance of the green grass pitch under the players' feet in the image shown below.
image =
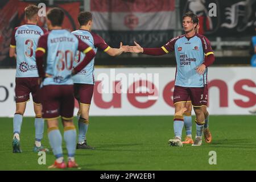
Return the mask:
M 96 150 L 77 150 L 76 162 L 81 170 L 256 170 L 255 118 L 212 115 L 211 144 L 170 147 L 172 116 L 90 117 L 87 139 Z M 77 126 L 76 118 L 74 121 Z M 63 131 L 62 126 L 60 129 Z M 195 129 L 193 123 L 193 138 Z M 1 170 L 48 170 L 54 161 L 52 152 L 46 155 L 46 165 L 39 165 L 39 156 L 32 152 L 34 118 L 23 119 L 21 154 L 12 152 L 13 118 L 0 118 L 0 130 Z M 46 125 L 42 143 L 50 148 Z M 216 165 L 209 164 L 209 151 L 216 151 Z M 64 155 L 66 159 L 65 148 Z

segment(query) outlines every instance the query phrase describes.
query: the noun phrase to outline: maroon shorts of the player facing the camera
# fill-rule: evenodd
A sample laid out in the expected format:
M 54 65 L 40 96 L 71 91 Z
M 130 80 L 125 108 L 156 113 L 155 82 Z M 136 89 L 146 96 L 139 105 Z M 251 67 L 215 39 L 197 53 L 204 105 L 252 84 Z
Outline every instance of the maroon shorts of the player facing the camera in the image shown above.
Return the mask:
M 186 102 L 191 99 L 192 105 L 195 107 L 207 106 L 208 100 L 208 87 L 174 87 L 174 104 L 177 102 Z

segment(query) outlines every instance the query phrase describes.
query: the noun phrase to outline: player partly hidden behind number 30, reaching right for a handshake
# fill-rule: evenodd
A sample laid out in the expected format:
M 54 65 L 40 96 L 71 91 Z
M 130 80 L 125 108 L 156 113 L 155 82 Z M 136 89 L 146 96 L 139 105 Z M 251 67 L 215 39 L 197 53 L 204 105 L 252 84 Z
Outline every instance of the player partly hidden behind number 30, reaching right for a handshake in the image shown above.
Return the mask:
M 110 56 L 118 56 L 122 52 L 127 51 L 128 46 L 122 46 L 122 43 L 120 43 L 120 48 L 111 48 L 106 44 L 104 39 L 91 32 L 93 25 L 92 13 L 81 12 L 77 20 L 80 24 L 80 29 L 73 31 L 72 34 L 92 47 L 94 52 L 97 52 L 97 49 L 100 48 Z M 74 65 L 79 65 L 84 56 L 84 54 L 78 52 Z M 77 113 L 77 119 L 79 120 L 79 137 L 76 148 L 94 149 L 94 147 L 89 146 L 86 141 L 86 133 L 89 126 L 89 109 L 94 88 L 94 59 L 83 68 L 81 72 L 73 76 L 73 81 L 75 98 L 79 101 L 79 112 Z

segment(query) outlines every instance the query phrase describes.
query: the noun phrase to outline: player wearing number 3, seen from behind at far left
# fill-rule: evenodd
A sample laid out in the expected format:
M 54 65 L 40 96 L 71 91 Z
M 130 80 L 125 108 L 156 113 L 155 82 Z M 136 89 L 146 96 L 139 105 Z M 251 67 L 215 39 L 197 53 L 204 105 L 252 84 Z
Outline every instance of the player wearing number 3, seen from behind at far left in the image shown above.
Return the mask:
M 41 144 L 44 132 L 42 106 L 39 99 L 38 70 L 35 62 L 35 50 L 38 39 L 46 30 L 36 25 L 39 8 L 29 5 L 24 9 L 26 24 L 16 27 L 13 31 L 10 45 L 10 57 L 16 58 L 15 102 L 13 152 L 20 153 L 20 129 L 26 104 L 30 100 L 30 93 L 34 101 L 35 111 L 35 146 L 34 152 L 48 151 Z

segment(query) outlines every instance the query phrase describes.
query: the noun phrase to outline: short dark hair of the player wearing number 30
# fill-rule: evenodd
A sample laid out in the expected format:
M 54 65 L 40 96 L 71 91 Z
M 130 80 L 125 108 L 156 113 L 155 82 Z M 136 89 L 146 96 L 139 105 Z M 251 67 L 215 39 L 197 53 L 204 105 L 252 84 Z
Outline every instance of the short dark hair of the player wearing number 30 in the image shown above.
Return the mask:
M 50 9 L 46 16 L 51 21 L 52 26 L 61 26 L 64 20 L 64 12 L 59 7 Z

